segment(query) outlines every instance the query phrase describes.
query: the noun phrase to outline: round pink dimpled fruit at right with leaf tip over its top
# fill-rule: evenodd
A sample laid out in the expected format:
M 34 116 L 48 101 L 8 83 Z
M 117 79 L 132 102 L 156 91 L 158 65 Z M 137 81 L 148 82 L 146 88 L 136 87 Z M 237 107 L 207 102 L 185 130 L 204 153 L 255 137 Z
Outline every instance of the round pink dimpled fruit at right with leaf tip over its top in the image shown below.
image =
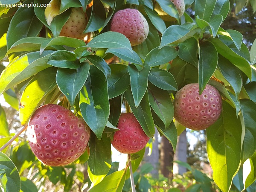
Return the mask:
M 215 87 L 207 84 L 199 95 L 198 83 L 187 84 L 175 94 L 174 117 L 186 128 L 202 130 L 217 121 L 221 107 L 221 95 Z

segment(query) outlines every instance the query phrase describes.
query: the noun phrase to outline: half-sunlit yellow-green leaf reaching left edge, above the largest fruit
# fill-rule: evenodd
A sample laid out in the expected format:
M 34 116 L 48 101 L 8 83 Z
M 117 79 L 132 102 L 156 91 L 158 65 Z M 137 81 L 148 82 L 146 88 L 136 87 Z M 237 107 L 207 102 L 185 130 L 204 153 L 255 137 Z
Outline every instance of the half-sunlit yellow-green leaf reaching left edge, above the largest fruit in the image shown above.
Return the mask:
M 47 64 L 52 51 L 46 51 L 42 55 L 39 52 L 30 52 L 17 59 L 13 59 L 3 70 L 0 76 L 0 94 L 16 84 L 29 79 L 50 65 Z

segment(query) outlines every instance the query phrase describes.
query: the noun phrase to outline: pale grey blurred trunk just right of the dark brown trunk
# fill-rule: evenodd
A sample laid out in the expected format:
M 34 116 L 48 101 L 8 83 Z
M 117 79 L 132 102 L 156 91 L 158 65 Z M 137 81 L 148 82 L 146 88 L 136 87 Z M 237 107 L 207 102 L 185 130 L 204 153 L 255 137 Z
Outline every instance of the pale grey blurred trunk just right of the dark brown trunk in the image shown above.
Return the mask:
M 186 129 L 180 134 L 177 140 L 176 154 L 174 156 L 174 161 L 180 160 L 187 162 L 187 138 L 186 138 Z M 173 163 L 173 174 L 180 174 L 187 172 L 186 168 L 180 166 L 178 163 Z

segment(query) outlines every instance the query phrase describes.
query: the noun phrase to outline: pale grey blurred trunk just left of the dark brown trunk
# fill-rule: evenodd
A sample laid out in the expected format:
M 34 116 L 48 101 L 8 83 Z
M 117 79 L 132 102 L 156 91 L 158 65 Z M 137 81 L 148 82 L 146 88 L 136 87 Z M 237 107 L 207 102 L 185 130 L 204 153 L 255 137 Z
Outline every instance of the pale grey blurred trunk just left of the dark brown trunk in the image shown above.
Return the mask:
M 158 149 L 158 131 L 155 128 L 154 141 L 152 143 L 152 152 L 148 156 L 149 148 L 145 150 L 144 161 L 145 163 L 150 163 L 154 169 L 150 172 L 154 178 L 158 178 L 159 170 L 159 149 Z

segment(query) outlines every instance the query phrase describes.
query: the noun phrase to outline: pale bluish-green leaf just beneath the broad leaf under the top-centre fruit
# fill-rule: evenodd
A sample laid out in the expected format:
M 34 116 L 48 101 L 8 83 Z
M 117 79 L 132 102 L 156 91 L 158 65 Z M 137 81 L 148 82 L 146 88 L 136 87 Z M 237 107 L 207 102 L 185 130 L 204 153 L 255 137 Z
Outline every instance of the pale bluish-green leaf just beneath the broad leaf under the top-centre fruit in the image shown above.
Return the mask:
M 110 48 L 110 49 L 107 49 L 107 51 L 105 53 L 108 53 L 108 52 L 113 53 L 114 55 L 116 55 L 117 57 L 119 57 L 125 61 L 142 65 L 140 56 L 135 51 L 131 52 L 129 49 Z

